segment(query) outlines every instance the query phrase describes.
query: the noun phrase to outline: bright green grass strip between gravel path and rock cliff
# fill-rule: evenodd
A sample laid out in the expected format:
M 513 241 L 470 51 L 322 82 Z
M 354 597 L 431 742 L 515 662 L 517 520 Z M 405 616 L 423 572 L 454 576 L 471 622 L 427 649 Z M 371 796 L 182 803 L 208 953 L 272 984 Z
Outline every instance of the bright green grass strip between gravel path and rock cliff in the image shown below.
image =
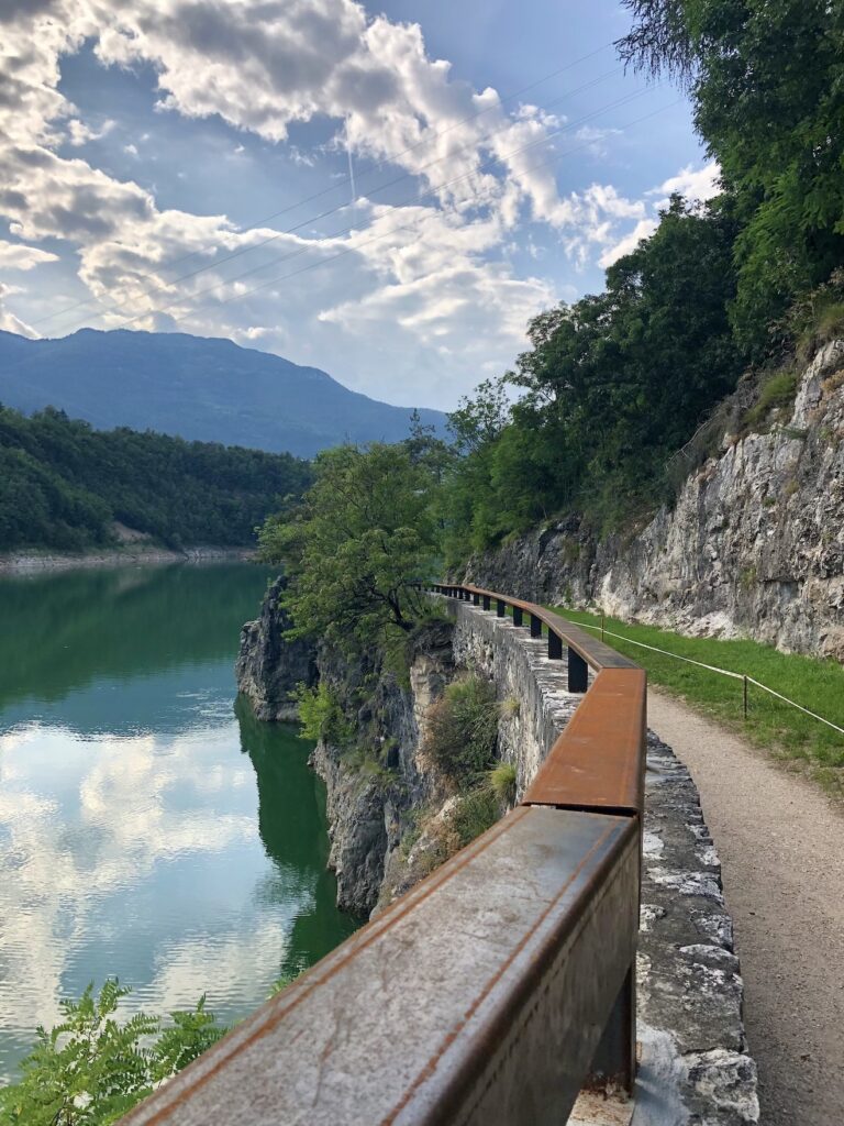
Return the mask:
M 601 624 L 600 614 L 551 608 L 571 622 Z M 612 633 L 646 645 L 754 677 L 844 727 L 844 667 L 837 661 L 780 653 L 755 641 L 684 637 L 670 629 L 630 625 L 617 618 L 608 617 L 605 626 Z M 844 735 L 753 685 L 748 688 L 749 708 L 745 721 L 742 681 L 626 644 L 617 637 L 607 637 L 607 643 L 646 669 L 653 683 L 740 732 L 776 758 L 803 765 L 828 793 L 844 798 Z

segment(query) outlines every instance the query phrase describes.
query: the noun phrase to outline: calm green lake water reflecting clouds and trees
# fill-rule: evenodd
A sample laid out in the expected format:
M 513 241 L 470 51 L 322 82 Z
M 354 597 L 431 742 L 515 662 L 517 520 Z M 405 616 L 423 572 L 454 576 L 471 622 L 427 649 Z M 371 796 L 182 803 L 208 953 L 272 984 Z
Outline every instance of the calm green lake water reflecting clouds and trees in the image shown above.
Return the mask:
M 0 579 L 0 1079 L 59 1001 L 245 1016 L 358 924 L 294 727 L 235 700 L 250 564 Z

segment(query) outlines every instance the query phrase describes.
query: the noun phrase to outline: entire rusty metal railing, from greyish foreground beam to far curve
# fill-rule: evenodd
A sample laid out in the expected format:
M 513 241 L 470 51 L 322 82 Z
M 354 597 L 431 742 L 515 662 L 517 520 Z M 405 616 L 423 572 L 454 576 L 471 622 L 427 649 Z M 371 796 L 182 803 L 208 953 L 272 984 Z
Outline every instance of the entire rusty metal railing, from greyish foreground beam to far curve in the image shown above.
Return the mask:
M 429 589 L 545 626 L 573 718 L 520 806 L 126 1126 L 559 1126 L 584 1084 L 632 1090 L 645 674 L 532 602 Z

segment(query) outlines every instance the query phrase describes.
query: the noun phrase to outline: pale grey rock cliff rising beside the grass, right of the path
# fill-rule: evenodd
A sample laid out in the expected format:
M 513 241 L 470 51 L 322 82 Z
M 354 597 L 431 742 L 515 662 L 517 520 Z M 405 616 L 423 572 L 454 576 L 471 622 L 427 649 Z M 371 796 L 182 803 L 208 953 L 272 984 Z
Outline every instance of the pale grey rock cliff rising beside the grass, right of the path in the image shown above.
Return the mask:
M 816 355 L 779 415 L 766 432 L 725 434 L 637 535 L 598 542 L 567 520 L 474 560 L 468 578 L 844 660 L 844 341 Z

